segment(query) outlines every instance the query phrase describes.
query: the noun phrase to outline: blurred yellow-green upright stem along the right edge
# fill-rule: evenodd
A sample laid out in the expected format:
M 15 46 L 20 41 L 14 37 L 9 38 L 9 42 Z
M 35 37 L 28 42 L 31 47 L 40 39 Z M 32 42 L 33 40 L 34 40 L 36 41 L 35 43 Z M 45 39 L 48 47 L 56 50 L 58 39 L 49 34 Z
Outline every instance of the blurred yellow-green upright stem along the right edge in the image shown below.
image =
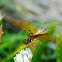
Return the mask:
M 57 33 L 57 57 L 56 60 L 57 62 L 62 62 L 62 35 L 60 35 L 59 33 Z

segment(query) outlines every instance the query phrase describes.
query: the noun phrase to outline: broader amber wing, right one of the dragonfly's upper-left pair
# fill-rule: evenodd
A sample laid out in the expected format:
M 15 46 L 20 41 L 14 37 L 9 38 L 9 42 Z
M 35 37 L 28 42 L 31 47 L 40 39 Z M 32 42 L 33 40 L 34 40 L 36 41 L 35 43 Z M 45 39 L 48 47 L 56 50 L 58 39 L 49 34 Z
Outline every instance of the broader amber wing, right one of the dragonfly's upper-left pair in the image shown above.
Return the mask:
M 21 20 L 20 24 L 26 28 L 31 34 L 36 34 L 38 29 L 35 27 L 35 25 L 29 21 Z

